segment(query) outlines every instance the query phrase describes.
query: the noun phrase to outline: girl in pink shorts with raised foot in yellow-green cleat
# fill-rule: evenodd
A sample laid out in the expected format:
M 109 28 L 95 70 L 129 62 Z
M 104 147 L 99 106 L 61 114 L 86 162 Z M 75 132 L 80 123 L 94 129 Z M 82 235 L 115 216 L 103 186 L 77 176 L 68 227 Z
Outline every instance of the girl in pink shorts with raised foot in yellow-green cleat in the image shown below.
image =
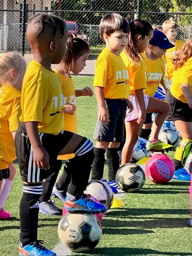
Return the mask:
M 122 150 L 121 164 L 129 163 L 132 158 L 134 146 L 138 140 L 140 126 L 146 120 L 146 113 L 157 112 L 148 151 L 163 152 L 171 150 L 173 146 L 158 140 L 160 129 L 169 111 L 169 104 L 144 94 L 146 89 L 146 66 L 141 54 L 146 51 L 149 41 L 153 37 L 152 26 L 144 20 L 129 20 L 130 34 L 128 44 L 121 56 L 126 64 L 131 89 L 130 101 L 134 104 L 134 111 L 126 114 L 126 142 Z

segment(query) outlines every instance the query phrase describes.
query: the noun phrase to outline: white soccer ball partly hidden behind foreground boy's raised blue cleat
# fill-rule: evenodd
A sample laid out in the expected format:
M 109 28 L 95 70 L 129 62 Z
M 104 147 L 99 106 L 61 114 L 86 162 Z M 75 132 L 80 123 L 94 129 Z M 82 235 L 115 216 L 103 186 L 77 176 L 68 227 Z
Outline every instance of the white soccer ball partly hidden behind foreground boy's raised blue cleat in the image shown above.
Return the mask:
M 101 204 L 104 204 L 106 211 L 112 206 L 114 198 L 113 191 L 107 182 L 91 180 L 88 182 L 84 193 L 94 196 Z

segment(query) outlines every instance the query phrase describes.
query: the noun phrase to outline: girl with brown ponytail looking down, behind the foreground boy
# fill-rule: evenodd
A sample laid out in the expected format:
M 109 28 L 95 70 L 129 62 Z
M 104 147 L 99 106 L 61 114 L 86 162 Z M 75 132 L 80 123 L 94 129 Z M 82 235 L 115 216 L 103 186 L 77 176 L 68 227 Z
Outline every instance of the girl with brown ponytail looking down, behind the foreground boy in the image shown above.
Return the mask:
M 71 34 L 68 36 L 67 51 L 64 59 L 53 69 L 61 82 L 62 92 L 64 95 L 64 129 L 74 133 L 77 133 L 76 97 L 91 97 L 93 92 L 89 87 L 85 87 L 82 90 L 75 90 L 70 73 L 79 74 L 86 66 L 86 60 L 89 54 L 89 44 L 80 38 L 75 38 Z M 54 202 L 50 200 L 50 197 L 53 192 L 55 197 L 60 198 L 63 202 L 65 201 L 67 187 L 71 180 L 71 175 L 66 172 L 67 163 L 64 165 L 64 170 L 56 185 L 55 182 L 62 166 L 61 160 L 70 161 L 74 156 L 74 154 L 58 156 L 58 163 L 55 166 L 54 171 L 51 176 L 46 178 L 43 182 L 42 195 L 39 200 L 40 213 L 48 215 L 62 215 L 62 209 L 58 208 Z

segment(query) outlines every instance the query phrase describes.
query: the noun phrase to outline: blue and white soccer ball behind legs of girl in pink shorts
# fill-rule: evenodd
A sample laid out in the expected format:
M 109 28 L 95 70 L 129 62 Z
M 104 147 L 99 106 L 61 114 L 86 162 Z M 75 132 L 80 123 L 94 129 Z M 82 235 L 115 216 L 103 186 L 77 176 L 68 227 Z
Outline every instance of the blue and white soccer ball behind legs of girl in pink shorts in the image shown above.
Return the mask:
M 139 161 L 144 157 L 150 157 L 150 153 L 146 150 L 147 140 L 144 138 L 138 138 L 137 143 L 134 146 L 132 160 Z

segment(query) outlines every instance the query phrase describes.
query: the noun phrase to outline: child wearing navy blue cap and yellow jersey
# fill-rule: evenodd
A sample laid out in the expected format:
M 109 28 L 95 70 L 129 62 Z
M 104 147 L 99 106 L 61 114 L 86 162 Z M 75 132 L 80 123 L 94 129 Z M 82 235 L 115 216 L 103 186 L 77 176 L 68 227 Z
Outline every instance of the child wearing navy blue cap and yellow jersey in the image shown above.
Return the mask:
M 154 97 L 158 86 L 162 86 L 166 93 L 166 86 L 164 83 L 165 62 L 162 56 L 167 49 L 174 47 L 160 30 L 154 30 L 154 35 L 149 42 L 148 49 L 142 53 L 142 57 L 146 63 L 146 86 L 144 94 Z M 140 137 L 148 140 L 152 127 L 152 113 L 146 113 L 146 120 L 140 130 Z

